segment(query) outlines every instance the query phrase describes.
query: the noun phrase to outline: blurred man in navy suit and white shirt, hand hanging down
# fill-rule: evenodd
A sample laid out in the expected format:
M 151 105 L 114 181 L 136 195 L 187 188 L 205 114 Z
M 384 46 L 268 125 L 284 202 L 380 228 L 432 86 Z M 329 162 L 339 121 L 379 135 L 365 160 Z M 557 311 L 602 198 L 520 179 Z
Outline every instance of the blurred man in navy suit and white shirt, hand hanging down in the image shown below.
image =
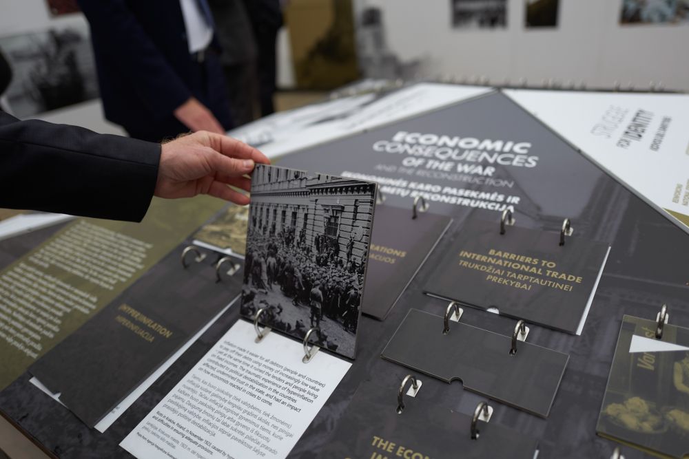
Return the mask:
M 105 118 L 160 141 L 233 127 L 206 0 L 78 0 L 91 39 Z

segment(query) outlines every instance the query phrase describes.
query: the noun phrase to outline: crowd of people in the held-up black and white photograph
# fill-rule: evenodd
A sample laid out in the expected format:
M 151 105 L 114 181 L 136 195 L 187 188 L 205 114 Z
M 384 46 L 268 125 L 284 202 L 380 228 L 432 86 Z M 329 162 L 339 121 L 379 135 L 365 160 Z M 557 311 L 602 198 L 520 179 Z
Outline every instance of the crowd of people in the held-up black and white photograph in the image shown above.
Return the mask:
M 273 321 L 280 320 L 285 307 L 307 307 L 309 328 L 320 328 L 327 317 L 344 330 L 356 332 L 363 264 L 357 264 L 351 255 L 353 241 L 347 244 L 343 257 L 339 256 L 339 244 L 326 235 L 318 235 L 313 246 L 306 244 L 304 229 L 297 235 L 294 227 L 277 233 L 273 227 L 266 235 L 250 228 L 242 306 L 253 312 L 266 308 L 269 316 L 265 319 L 270 317 Z M 277 293 L 286 304 L 271 303 L 274 295 L 259 299 L 258 292 Z M 302 323 L 283 325 L 288 330 L 303 327 Z

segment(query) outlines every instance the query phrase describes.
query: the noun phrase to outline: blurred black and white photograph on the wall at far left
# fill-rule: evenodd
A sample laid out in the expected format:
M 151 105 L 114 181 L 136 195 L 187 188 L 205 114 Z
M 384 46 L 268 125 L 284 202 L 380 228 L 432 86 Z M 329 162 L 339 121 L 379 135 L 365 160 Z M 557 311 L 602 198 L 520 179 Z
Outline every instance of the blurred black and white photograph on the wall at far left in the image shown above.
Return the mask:
M 6 36 L 0 50 L 12 68 L 4 96 L 14 116 L 33 116 L 99 95 L 86 25 Z

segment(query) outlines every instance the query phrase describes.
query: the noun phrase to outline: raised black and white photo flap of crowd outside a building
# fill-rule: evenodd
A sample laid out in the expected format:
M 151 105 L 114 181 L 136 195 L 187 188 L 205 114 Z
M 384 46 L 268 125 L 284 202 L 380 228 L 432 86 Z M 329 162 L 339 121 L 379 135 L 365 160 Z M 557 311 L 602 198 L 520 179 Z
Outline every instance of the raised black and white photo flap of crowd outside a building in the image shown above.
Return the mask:
M 352 358 L 376 185 L 258 164 L 241 314 Z

